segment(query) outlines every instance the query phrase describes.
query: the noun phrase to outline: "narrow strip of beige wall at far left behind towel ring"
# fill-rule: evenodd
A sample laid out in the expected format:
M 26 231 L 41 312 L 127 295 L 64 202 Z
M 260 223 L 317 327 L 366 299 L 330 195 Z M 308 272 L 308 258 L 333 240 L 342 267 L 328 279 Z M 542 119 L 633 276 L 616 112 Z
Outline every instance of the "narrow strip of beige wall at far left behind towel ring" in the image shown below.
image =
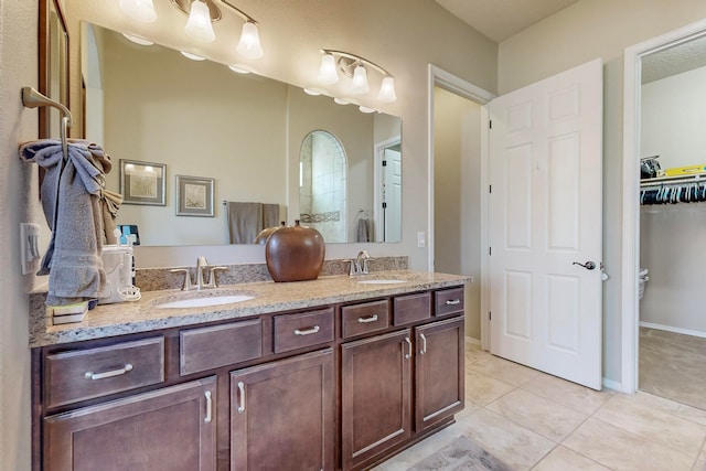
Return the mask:
M 36 111 L 22 107 L 20 88 L 38 85 L 38 2 L 0 2 L 0 468 L 30 469 L 30 351 L 28 298 L 36 279 L 20 275 L 19 224 L 43 221 L 38 169 L 18 146 L 38 135 Z

